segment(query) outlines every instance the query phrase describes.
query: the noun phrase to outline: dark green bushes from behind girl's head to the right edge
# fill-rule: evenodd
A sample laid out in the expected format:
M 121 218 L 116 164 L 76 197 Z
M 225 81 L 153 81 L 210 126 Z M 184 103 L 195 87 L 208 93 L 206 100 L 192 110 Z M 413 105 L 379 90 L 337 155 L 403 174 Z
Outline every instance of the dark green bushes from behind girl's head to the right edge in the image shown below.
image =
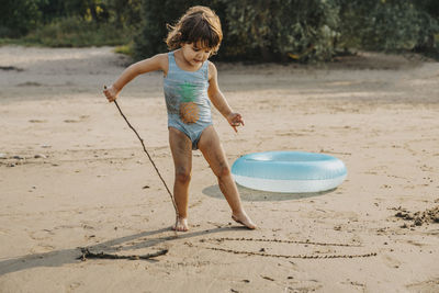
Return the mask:
M 345 47 L 437 49 L 437 0 L 144 0 L 135 56 L 166 52 L 166 24 L 193 4 L 219 15 L 221 59 L 313 61 L 328 60 Z

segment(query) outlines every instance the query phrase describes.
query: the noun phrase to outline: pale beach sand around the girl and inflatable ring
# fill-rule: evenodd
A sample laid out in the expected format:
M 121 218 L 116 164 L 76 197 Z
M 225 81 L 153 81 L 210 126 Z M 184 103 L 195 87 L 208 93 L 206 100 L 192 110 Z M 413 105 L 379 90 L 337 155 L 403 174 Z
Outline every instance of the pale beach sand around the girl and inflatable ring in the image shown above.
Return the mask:
M 438 63 L 360 53 L 326 66 L 219 64 L 246 122 L 235 134 L 213 112 L 230 165 L 325 153 L 348 178 L 318 194 L 239 187 L 259 226 L 247 230 L 194 151 L 191 229 L 178 234 L 160 179 L 101 94 L 128 64 L 111 47 L 0 47 L 0 292 L 439 291 Z M 142 76 L 119 101 L 172 185 L 161 82 Z M 81 247 L 168 252 L 83 261 Z

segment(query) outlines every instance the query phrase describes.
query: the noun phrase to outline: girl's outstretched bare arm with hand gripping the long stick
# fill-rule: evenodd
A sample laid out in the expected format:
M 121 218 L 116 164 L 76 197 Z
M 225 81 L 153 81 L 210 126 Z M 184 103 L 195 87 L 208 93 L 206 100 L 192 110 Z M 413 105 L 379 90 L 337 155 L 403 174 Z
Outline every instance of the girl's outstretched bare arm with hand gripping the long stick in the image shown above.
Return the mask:
M 117 94 L 121 92 L 123 87 L 125 87 L 126 83 L 132 81 L 135 77 L 137 77 L 138 75 L 157 70 L 164 71 L 165 75 L 167 74 L 168 71 L 167 54 L 158 54 L 148 59 L 130 65 L 111 87 L 103 90 L 103 93 L 105 94 L 109 102 L 113 102 L 115 99 L 117 99 Z

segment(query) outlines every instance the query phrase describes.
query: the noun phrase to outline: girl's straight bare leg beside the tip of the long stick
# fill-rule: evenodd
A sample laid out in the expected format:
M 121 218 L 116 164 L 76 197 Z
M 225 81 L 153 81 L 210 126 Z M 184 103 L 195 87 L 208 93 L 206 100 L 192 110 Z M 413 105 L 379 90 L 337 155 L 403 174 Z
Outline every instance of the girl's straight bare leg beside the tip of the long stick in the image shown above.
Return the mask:
M 169 127 L 169 145 L 176 169 L 173 198 L 179 212 L 177 224 L 172 228 L 184 232 L 189 229 L 188 198 L 192 169 L 192 142 L 182 132 L 173 127 Z

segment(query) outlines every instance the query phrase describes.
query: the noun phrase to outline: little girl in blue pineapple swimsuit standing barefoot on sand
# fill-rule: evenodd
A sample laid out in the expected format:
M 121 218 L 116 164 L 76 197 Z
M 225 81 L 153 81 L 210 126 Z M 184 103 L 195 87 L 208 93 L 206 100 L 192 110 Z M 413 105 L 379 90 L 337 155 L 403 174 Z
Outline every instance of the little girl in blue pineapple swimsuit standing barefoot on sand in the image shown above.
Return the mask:
M 209 8 L 193 7 L 170 29 L 166 43 L 171 52 L 131 65 L 103 93 L 113 102 L 122 88 L 136 76 L 161 70 L 169 145 L 176 170 L 173 196 L 178 221 L 172 228 L 180 232 L 189 229 L 192 149 L 200 149 L 218 179 L 219 189 L 232 209 L 232 218 L 255 229 L 256 225 L 241 206 L 219 137 L 212 125 L 211 102 L 235 132 L 239 125 L 244 126 L 243 116 L 233 112 L 219 91 L 215 65 L 207 60 L 216 53 L 223 38 L 219 18 Z

